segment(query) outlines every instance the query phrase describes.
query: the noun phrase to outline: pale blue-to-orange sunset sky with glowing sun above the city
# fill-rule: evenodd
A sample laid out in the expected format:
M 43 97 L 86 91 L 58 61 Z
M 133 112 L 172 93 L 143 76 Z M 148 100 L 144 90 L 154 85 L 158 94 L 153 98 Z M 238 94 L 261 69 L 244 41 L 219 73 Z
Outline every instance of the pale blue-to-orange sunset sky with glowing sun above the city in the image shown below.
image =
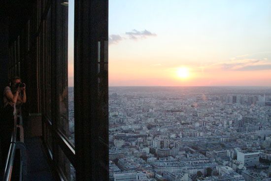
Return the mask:
M 271 86 L 271 0 L 109 0 L 109 86 L 213 85 Z

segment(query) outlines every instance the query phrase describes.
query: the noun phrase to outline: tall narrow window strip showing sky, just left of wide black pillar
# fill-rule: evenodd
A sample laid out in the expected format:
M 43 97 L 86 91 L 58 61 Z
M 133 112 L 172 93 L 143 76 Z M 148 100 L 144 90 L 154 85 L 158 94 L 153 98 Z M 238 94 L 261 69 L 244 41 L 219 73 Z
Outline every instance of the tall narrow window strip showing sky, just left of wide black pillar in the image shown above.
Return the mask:
M 74 146 L 74 116 L 73 116 L 73 24 L 74 0 L 60 4 L 63 14 L 63 54 L 61 58 L 60 77 L 60 119 L 58 129 L 67 137 Z M 67 41 L 68 40 L 68 41 Z

